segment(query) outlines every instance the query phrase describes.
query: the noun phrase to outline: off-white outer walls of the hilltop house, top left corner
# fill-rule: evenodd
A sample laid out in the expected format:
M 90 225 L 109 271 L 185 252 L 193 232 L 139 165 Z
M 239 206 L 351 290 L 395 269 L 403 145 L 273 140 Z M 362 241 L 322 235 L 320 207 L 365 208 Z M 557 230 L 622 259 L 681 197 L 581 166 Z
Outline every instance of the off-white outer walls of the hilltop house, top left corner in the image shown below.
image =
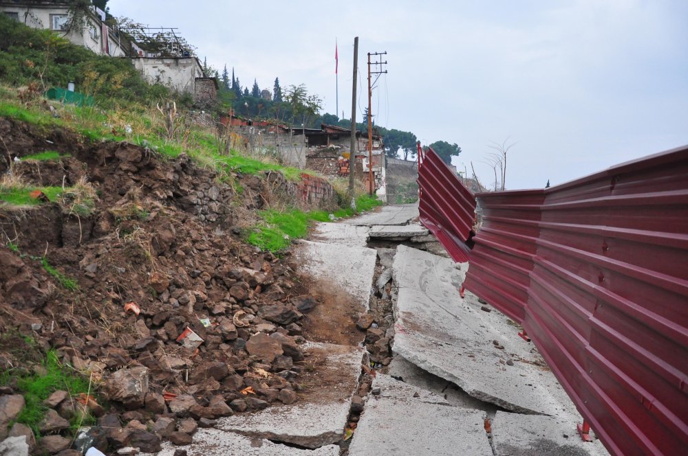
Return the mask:
M 59 16 L 67 16 L 68 8 L 64 5 L 50 4 L 22 6 L 19 3 L 0 1 L 0 12 L 17 13 L 19 22 L 32 28 L 55 30 L 53 28 L 53 19 Z M 129 47 L 131 46 L 129 41 L 120 39 L 116 32 L 110 30 L 107 37 L 103 37 L 103 23 L 95 13 L 94 16 L 88 18 L 87 22 L 83 31 L 72 30 L 64 32 L 55 30 L 55 32 L 64 36 L 75 45 L 86 47 L 96 54 L 113 57 L 123 57 L 129 54 Z M 103 39 L 107 39 L 109 43 L 109 54 L 105 52 Z

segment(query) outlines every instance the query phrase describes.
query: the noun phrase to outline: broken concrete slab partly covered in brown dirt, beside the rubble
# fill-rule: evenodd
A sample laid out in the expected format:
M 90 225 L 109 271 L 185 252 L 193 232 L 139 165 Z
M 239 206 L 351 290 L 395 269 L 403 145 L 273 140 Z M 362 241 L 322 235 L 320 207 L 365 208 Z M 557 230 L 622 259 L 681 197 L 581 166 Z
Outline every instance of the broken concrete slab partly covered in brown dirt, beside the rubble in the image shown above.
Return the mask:
M 363 350 L 360 347 L 307 343 L 299 402 L 217 420 L 217 429 L 252 437 L 319 448 L 341 440 L 351 398 L 358 389 Z

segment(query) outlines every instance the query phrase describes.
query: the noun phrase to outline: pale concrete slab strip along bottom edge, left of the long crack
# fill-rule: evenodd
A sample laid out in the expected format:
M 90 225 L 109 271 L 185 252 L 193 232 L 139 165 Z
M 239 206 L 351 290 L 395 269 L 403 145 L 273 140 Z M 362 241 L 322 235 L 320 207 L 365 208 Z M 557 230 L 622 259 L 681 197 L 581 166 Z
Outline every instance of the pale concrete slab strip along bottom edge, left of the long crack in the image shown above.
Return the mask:
M 189 456 L 337 456 L 338 445 L 321 446 L 314 450 L 293 448 L 270 442 L 259 437 L 246 437 L 220 429 L 199 429 L 193 435 L 193 444 L 175 446 L 171 442 L 162 443 L 162 451 L 157 456 L 173 456 L 175 450 L 186 450 Z M 150 453 L 140 453 L 147 456 Z

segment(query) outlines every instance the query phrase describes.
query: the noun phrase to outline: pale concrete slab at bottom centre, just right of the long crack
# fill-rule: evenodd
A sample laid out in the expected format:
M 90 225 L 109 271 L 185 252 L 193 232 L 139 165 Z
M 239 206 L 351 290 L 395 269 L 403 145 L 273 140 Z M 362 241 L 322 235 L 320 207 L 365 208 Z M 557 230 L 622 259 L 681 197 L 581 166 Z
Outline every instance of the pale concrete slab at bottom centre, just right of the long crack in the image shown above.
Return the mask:
M 378 374 L 349 447 L 350 456 L 492 455 L 484 412 Z

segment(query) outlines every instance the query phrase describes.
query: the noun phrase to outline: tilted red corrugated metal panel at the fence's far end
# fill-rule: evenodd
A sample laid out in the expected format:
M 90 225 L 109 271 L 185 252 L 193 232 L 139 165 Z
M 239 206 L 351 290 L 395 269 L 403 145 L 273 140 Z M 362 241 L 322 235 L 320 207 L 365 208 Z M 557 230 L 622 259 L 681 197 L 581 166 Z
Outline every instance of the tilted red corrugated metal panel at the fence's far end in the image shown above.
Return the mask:
M 420 222 L 442 242 L 451 258 L 469 258 L 469 240 L 475 220 L 475 197 L 431 148 L 418 147 Z

